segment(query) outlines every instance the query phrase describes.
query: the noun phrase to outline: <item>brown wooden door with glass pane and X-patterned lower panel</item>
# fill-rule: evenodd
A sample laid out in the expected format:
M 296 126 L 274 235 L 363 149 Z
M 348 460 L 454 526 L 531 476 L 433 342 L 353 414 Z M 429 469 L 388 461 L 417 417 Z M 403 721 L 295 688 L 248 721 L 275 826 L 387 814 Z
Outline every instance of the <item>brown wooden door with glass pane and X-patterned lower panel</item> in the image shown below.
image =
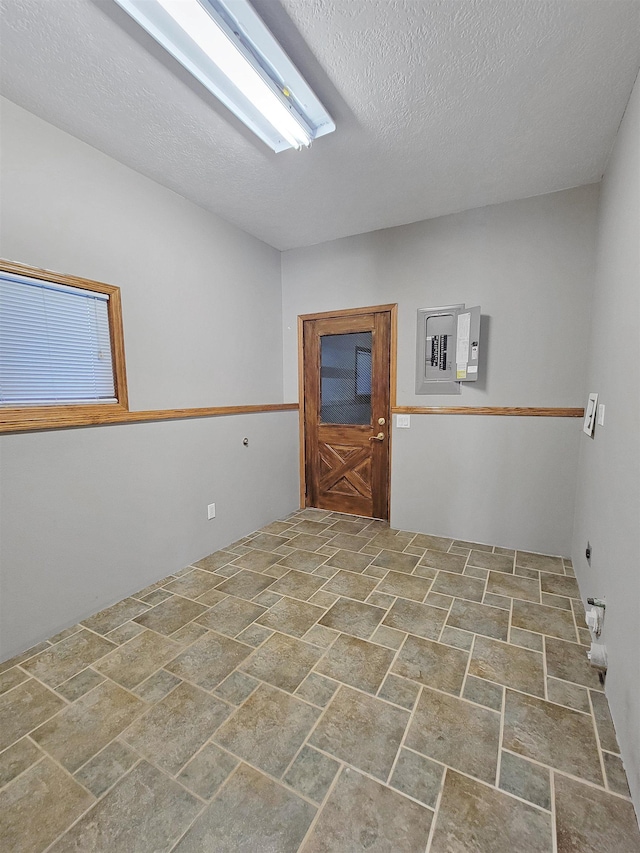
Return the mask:
M 391 311 L 301 318 L 306 506 L 389 518 Z

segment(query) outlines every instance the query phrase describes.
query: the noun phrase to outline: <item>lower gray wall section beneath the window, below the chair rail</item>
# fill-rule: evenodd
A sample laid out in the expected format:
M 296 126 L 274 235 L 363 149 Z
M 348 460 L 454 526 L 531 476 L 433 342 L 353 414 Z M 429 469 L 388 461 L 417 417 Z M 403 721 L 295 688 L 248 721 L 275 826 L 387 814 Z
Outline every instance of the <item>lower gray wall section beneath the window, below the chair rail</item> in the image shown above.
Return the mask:
M 0 660 L 295 509 L 297 441 L 296 412 L 2 437 Z

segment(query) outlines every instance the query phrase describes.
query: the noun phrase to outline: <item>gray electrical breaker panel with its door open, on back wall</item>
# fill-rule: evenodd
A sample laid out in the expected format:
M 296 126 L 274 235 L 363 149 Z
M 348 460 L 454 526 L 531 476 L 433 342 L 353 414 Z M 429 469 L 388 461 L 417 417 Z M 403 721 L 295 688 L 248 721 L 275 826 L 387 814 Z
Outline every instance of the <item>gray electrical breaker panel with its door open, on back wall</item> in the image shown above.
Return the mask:
M 416 394 L 459 394 L 478 378 L 480 306 L 418 309 Z

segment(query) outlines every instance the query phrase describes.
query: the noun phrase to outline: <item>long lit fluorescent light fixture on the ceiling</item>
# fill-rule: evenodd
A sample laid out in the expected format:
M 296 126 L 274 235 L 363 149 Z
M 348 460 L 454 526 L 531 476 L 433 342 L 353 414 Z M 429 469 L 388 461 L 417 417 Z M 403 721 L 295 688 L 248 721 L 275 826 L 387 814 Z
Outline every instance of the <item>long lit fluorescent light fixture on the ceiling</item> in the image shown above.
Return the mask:
M 248 0 L 115 0 L 274 151 L 336 126 Z

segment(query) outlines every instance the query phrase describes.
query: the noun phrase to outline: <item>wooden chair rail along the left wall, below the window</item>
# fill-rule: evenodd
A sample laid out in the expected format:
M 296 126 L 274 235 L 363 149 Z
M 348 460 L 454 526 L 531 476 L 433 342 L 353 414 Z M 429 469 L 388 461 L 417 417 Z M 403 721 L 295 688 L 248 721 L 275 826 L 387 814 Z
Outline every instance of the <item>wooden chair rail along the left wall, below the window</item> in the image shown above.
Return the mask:
M 0 433 L 27 432 L 44 429 L 68 429 L 82 426 L 108 426 L 109 424 L 144 423 L 150 421 L 186 420 L 188 418 L 216 418 L 224 415 L 252 415 L 261 412 L 293 412 L 297 403 L 267 403 L 255 406 L 211 406 L 199 409 L 158 409 L 129 412 L 121 407 L 88 407 L 73 413 L 65 406 L 43 406 L 41 409 L 0 409 Z

